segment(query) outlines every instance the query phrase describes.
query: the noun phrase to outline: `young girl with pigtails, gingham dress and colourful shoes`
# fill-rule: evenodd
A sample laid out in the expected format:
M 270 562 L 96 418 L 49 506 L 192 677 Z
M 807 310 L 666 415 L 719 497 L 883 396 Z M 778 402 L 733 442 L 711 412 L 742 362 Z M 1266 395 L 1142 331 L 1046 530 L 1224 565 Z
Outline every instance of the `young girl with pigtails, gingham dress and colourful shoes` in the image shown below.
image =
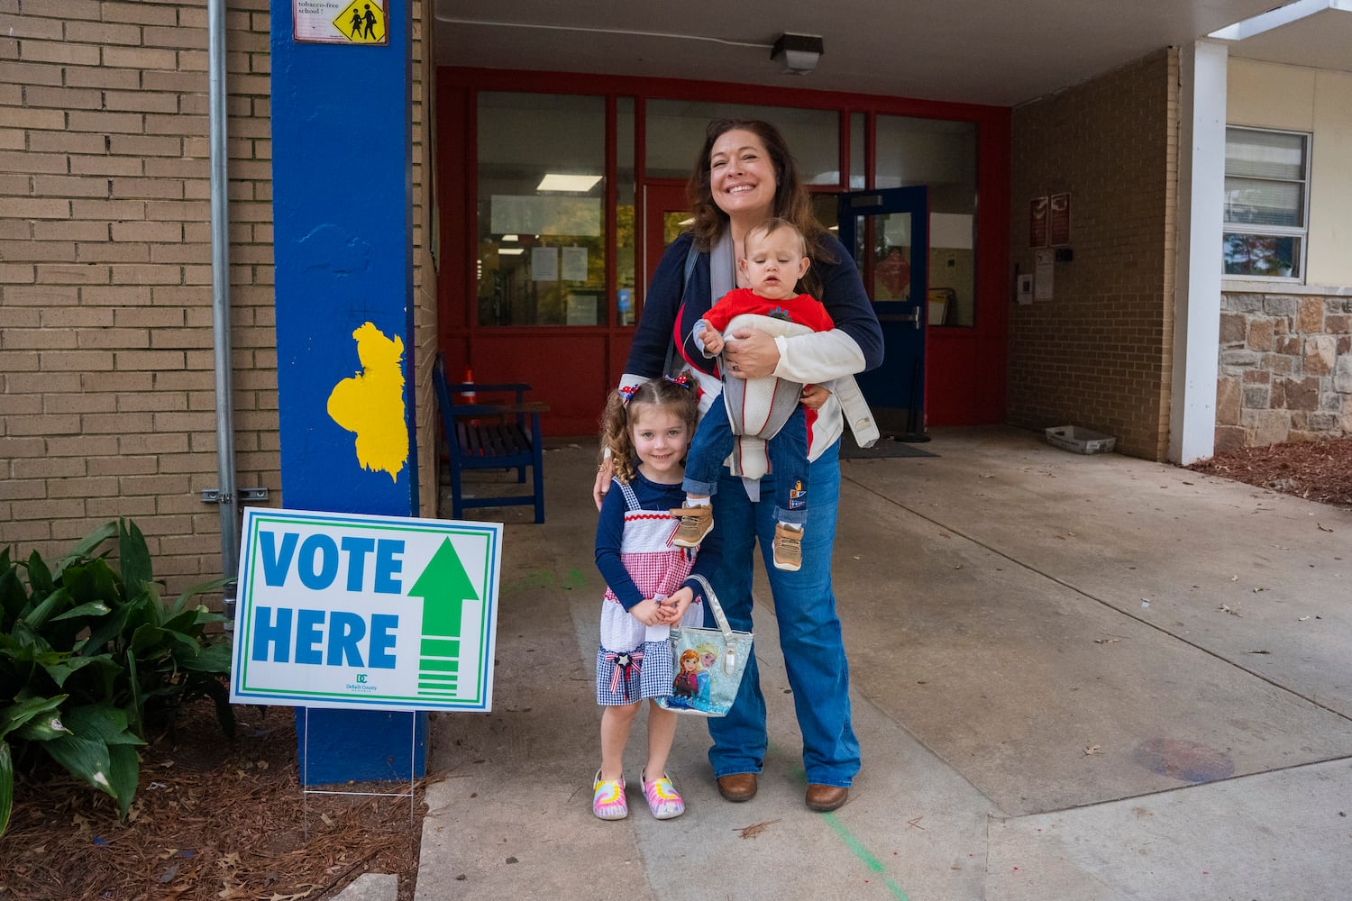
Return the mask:
M 625 744 L 644 698 L 649 698 L 648 762 L 639 771 L 644 797 L 658 820 L 685 810 L 667 775 L 676 713 L 652 698 L 672 694 L 669 627 L 704 621 L 704 605 L 695 602 L 698 584 L 688 577 L 713 573 L 719 558 L 717 540 L 706 539 L 698 551 L 672 544 L 679 521 L 671 509 L 685 497 L 681 461 L 698 412 L 698 390 L 681 377 L 612 392 L 603 415 L 602 447 L 614 463 L 617 489 L 606 494 L 596 525 L 596 567 L 607 589 L 596 652 L 596 702 L 604 709 L 592 812 L 603 820 L 629 815 Z

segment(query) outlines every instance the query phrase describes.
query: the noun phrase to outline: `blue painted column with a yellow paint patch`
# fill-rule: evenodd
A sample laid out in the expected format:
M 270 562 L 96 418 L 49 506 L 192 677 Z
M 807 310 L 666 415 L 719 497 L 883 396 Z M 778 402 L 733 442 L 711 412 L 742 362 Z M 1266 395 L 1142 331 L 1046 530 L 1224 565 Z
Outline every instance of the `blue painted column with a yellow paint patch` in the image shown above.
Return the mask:
M 388 0 L 384 45 L 300 43 L 270 5 L 283 504 L 416 516 L 411 11 Z M 297 709 L 301 779 L 420 777 L 426 727 Z

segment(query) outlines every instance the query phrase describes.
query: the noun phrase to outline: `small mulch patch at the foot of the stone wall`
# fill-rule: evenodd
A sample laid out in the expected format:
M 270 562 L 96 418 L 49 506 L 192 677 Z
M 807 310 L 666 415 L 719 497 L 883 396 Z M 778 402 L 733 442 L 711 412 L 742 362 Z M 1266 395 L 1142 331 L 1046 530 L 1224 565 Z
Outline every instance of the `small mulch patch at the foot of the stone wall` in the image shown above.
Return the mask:
M 1321 504 L 1352 507 L 1352 438 L 1241 447 L 1188 469 Z

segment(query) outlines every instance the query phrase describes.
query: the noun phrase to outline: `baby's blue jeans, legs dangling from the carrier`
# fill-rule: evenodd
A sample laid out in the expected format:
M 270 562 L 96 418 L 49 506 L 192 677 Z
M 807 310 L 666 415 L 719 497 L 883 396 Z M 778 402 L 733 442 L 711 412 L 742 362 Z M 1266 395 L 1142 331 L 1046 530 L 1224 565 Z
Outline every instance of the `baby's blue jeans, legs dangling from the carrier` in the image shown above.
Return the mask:
M 685 478 L 681 488 L 687 494 L 717 494 L 719 478 L 726 474 L 723 461 L 733 453 L 737 438 L 727 419 L 727 405 L 722 397 L 699 420 L 695 438 L 685 454 Z M 802 525 L 807 521 L 807 413 L 799 404 L 784 426 L 765 442 L 775 480 L 775 517 L 780 523 Z M 737 485 L 744 494 L 746 490 Z M 834 524 L 833 524 L 834 528 Z M 718 586 L 714 586 L 718 590 Z

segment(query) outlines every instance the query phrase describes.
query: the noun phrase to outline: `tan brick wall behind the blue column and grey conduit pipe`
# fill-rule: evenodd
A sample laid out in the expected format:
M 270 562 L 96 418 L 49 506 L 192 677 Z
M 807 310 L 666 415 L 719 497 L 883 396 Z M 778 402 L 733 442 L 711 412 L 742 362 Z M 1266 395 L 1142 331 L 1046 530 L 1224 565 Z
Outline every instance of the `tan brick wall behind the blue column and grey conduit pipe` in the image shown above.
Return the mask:
M 268 28 L 268 0 L 231 0 L 237 484 L 280 505 Z M 206 0 L 0 0 L 0 544 L 128 516 L 177 593 L 220 569 Z

